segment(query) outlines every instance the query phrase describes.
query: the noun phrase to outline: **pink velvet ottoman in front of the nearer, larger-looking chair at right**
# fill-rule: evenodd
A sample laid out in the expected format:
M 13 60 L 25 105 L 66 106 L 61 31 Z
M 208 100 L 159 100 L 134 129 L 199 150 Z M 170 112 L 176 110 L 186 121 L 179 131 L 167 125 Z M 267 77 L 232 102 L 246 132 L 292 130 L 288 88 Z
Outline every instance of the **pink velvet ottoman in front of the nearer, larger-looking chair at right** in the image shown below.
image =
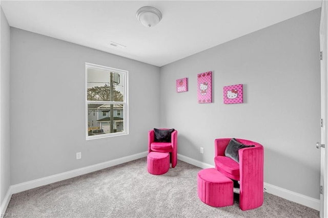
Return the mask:
M 213 207 L 225 207 L 234 204 L 233 181 L 215 168 L 202 169 L 197 175 L 199 199 Z

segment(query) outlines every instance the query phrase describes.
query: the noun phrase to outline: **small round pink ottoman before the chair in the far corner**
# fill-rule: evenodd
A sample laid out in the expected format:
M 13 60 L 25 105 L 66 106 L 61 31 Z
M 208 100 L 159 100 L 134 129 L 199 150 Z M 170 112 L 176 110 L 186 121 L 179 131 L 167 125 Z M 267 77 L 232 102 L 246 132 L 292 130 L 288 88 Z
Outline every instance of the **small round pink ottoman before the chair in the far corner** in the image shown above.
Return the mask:
M 170 154 L 152 151 L 147 156 L 147 169 L 150 174 L 161 175 L 169 171 Z

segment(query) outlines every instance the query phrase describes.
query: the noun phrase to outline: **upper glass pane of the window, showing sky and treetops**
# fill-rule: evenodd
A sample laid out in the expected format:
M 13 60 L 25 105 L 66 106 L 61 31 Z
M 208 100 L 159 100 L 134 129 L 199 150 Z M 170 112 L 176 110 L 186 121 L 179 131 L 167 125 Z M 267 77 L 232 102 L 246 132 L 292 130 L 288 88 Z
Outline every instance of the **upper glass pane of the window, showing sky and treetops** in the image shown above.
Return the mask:
M 103 69 L 87 69 L 88 101 L 124 101 L 124 74 Z

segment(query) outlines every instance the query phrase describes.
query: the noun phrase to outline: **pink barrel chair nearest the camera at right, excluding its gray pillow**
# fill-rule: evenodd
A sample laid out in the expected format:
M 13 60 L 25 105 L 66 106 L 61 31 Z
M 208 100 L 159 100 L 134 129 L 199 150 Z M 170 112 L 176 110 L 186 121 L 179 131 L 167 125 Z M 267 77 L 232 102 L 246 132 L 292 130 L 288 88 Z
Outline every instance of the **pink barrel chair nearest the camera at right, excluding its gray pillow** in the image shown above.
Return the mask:
M 239 163 L 224 156 L 230 138 L 215 139 L 215 168 L 226 177 L 239 181 L 239 207 L 250 210 L 263 204 L 263 159 L 261 144 L 245 139 L 236 139 L 245 145 L 255 145 L 238 150 Z

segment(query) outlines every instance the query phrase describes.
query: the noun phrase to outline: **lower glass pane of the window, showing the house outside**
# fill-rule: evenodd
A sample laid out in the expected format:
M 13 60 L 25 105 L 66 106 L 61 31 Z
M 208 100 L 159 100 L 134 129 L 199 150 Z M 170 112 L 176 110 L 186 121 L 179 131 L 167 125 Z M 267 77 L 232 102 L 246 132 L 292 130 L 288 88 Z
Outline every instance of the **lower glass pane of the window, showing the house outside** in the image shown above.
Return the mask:
M 124 132 L 124 104 L 88 103 L 88 123 L 88 136 Z

